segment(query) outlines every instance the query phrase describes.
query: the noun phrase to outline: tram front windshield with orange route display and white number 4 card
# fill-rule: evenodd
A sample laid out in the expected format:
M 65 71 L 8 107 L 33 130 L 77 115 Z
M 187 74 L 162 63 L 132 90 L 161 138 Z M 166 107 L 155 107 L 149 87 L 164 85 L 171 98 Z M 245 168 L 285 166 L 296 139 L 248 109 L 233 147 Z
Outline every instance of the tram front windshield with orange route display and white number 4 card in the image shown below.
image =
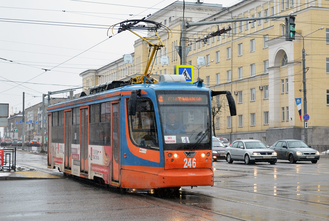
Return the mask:
M 211 149 L 207 91 L 158 91 L 164 150 Z

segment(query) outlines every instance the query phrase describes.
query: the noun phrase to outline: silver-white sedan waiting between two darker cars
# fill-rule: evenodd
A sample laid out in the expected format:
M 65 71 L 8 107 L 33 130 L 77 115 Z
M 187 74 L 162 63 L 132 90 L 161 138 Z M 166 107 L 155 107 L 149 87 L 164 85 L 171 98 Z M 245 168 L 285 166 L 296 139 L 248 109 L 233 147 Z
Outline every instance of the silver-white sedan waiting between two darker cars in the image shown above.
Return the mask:
M 277 155 L 274 150 L 260 140 L 236 140 L 231 146 L 225 149 L 226 161 L 232 163 L 236 161 L 244 161 L 245 164 L 253 164 L 255 162 L 269 162 L 274 165 Z

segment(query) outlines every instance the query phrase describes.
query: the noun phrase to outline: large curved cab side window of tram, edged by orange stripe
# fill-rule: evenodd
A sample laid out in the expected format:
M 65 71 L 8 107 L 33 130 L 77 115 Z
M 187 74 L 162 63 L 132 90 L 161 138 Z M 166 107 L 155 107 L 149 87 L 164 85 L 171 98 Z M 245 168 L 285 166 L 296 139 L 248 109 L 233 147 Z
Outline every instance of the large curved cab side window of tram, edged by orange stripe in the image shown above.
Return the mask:
M 129 102 L 129 99 L 127 99 Z M 127 103 L 128 107 L 128 103 Z M 136 115 L 129 116 L 131 141 L 144 148 L 159 149 L 159 138 L 153 103 L 148 98 L 138 98 Z

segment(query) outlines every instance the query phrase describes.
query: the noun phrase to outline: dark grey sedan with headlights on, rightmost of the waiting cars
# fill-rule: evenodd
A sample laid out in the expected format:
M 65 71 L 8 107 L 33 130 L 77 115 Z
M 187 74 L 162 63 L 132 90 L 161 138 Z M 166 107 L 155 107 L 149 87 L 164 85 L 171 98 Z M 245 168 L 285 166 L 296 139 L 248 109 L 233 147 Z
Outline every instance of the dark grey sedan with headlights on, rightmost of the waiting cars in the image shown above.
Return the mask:
M 270 149 L 278 154 L 278 160 L 289 160 L 290 163 L 297 161 L 317 163 L 320 159 L 320 153 L 301 140 L 279 140 Z

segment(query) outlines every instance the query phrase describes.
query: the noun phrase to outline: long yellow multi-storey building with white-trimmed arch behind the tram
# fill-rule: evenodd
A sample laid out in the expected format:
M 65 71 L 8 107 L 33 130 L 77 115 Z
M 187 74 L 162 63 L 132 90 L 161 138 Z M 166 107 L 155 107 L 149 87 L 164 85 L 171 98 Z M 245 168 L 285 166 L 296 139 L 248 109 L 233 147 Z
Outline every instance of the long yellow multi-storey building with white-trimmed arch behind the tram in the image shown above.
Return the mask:
M 326 2 L 245 0 L 228 8 L 205 3 L 185 3 L 185 22 L 238 19 L 187 29 L 186 42 L 190 52 L 186 61 L 195 66 L 195 80 L 199 76 L 204 79 L 205 86 L 212 90 L 229 90 L 235 97 L 237 116 L 229 116 L 227 107 L 215 117 L 217 137 L 228 138 L 231 142 L 254 138 L 266 144 L 273 144 L 278 139 L 304 139 L 304 47 L 307 113 L 310 116 L 307 143 L 329 144 L 329 28 L 326 28 L 329 7 Z M 173 74 L 174 65 L 180 64 L 175 46 L 181 42 L 182 11 L 182 2 L 175 2 L 148 18 L 162 22 L 173 32 L 172 38 L 165 37 L 167 33 L 160 33 L 166 47 L 157 54 L 152 68 L 153 77 Z M 296 14 L 296 34 L 292 41 L 286 41 L 285 18 L 257 20 L 257 17 L 288 15 L 290 12 Z M 239 21 L 240 18 L 253 17 L 255 20 Z M 324 29 L 319 30 L 322 26 Z M 232 28 L 227 34 L 196 42 L 227 27 Z M 130 66 L 124 67 L 123 60 L 118 60 L 105 68 L 107 71 L 113 68 L 109 74 L 101 69 L 82 73 L 86 89 L 88 86 L 110 80 L 127 80 L 140 74 L 146 66 L 149 48 L 141 39 L 136 40 L 134 46 L 134 58 Z M 161 65 L 160 56 L 168 56 L 169 64 Z M 206 64 L 197 65 L 197 57 L 205 57 Z M 93 75 L 92 71 L 97 74 Z M 88 79 L 89 83 L 94 84 L 87 85 L 86 76 L 95 76 L 94 80 Z M 105 80 L 97 81 L 96 76 L 102 76 L 99 78 Z M 224 99 L 224 96 L 221 98 Z M 301 102 L 301 118 L 296 99 Z M 216 102 L 218 100 L 214 99 L 213 103 Z

